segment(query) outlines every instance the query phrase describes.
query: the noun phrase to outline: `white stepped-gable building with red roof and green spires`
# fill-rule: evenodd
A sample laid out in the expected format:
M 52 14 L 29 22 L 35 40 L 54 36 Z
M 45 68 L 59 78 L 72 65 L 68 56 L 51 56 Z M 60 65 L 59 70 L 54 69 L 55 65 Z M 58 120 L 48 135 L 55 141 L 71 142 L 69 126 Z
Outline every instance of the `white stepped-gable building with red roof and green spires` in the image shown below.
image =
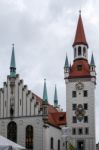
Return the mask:
M 41 99 L 20 80 L 13 45 L 10 75 L 0 89 L 0 135 L 29 150 L 61 150 L 61 125 L 66 124 L 66 115 L 55 107 L 48 103 L 46 81 Z

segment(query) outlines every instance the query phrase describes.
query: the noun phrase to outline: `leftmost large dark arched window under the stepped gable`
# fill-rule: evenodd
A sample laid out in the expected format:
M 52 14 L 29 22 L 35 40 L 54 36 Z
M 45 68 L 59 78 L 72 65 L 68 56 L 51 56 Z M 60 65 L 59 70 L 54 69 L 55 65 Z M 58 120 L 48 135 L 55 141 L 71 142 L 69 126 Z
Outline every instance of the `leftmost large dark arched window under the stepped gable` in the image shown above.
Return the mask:
M 17 142 L 17 124 L 14 121 L 11 121 L 7 126 L 7 138 Z

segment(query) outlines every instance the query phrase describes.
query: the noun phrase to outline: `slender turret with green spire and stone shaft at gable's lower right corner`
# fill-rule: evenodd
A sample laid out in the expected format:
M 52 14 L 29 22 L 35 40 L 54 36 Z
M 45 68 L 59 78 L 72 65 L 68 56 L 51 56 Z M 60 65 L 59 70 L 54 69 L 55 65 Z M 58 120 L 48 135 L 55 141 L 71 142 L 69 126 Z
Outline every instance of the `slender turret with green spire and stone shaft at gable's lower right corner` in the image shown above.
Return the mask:
M 42 108 L 43 108 L 43 120 L 44 122 L 47 122 L 48 120 L 48 96 L 47 96 L 46 79 L 44 79 Z

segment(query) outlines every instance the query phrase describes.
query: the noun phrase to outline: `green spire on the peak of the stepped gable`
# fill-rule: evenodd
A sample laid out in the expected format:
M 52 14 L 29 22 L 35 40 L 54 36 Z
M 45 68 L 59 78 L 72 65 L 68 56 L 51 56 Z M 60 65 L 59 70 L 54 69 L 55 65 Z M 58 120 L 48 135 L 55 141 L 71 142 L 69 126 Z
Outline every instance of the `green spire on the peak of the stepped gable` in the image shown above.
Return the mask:
M 16 76 L 16 63 L 15 63 L 15 53 L 14 53 L 14 44 L 12 44 L 12 55 L 11 55 L 11 63 L 10 63 L 10 76 Z

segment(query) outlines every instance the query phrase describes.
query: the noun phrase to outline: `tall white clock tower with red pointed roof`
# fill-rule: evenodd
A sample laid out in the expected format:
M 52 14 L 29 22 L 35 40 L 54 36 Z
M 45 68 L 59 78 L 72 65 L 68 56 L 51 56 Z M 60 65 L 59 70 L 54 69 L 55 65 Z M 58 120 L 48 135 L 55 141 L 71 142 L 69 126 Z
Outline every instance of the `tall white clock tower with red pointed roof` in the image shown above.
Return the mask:
M 90 64 L 88 62 L 88 43 L 81 12 L 73 51 L 73 64 L 69 67 L 65 61 L 64 67 L 67 126 L 72 130 L 71 142 L 77 150 L 95 150 L 95 62 L 93 54 Z

